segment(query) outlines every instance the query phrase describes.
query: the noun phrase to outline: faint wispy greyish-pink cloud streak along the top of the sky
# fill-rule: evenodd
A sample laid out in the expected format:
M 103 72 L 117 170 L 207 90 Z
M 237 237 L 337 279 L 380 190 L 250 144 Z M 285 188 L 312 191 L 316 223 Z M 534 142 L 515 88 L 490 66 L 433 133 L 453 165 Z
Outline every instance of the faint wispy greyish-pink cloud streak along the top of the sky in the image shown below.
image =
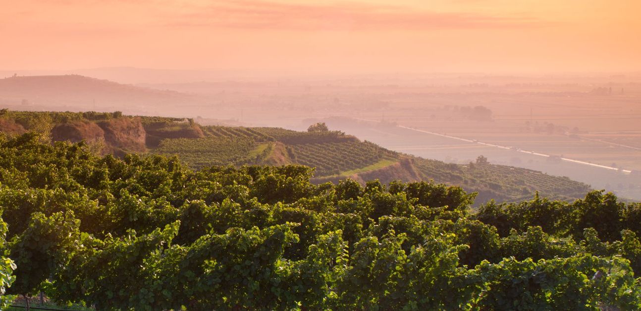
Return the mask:
M 549 22 L 524 15 L 431 12 L 362 3 L 291 4 L 260 0 L 210 4 L 181 13 L 167 22 L 167 26 L 175 27 L 286 30 L 524 28 L 547 25 Z

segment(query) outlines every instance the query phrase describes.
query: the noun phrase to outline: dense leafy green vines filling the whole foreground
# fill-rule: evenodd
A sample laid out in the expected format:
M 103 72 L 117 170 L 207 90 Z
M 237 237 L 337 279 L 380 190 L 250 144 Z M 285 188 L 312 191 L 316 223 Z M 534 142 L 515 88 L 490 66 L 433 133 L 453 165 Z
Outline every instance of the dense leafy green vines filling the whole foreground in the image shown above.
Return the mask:
M 0 134 L 0 303 L 42 293 L 94 310 L 641 308 L 641 203 L 590 191 L 473 211 L 476 194 L 458 186 L 316 185 L 312 174 L 196 171 Z

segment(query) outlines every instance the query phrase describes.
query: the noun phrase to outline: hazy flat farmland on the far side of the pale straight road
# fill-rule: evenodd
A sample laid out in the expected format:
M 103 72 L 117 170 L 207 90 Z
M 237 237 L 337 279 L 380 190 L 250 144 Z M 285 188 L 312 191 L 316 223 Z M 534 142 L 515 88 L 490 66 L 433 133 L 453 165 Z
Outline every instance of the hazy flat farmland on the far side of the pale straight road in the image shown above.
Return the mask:
M 619 88 L 624 88 L 626 95 L 617 94 Z M 492 89 L 500 90 L 498 87 Z M 388 112 L 385 120 L 468 140 L 641 170 L 638 161 L 641 159 L 638 85 L 612 86 L 612 89 L 613 95 L 576 92 L 474 94 L 473 105 L 492 110 L 492 121 L 489 122 L 461 118 L 453 111 L 454 105 L 464 102 L 466 95 L 426 94 L 422 97 L 426 101 L 424 113 L 414 110 L 410 115 L 411 104 L 398 102 L 394 105 L 398 109 Z M 504 90 L 514 92 L 513 89 Z M 456 103 L 457 99 L 460 102 Z M 403 111 L 403 107 L 407 110 Z M 369 118 L 380 119 L 380 115 Z

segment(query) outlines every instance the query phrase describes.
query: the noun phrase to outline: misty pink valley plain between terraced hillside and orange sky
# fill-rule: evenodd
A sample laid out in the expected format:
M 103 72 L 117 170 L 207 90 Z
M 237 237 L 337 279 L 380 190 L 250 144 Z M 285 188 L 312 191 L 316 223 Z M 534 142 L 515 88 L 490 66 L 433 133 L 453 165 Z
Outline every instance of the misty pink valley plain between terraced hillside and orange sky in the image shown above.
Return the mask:
M 188 82 L 218 73 L 135 68 L 94 73 L 127 81 L 132 70 L 137 79 L 174 83 L 18 76 L 0 80 L 0 100 L 17 110 L 47 111 L 64 103 L 69 111 L 180 116 L 202 125 L 304 131 L 322 121 L 405 154 L 457 164 L 484 155 L 490 163 L 567 176 L 641 199 L 641 75 L 241 76 Z M 176 83 L 179 79 L 185 82 Z

